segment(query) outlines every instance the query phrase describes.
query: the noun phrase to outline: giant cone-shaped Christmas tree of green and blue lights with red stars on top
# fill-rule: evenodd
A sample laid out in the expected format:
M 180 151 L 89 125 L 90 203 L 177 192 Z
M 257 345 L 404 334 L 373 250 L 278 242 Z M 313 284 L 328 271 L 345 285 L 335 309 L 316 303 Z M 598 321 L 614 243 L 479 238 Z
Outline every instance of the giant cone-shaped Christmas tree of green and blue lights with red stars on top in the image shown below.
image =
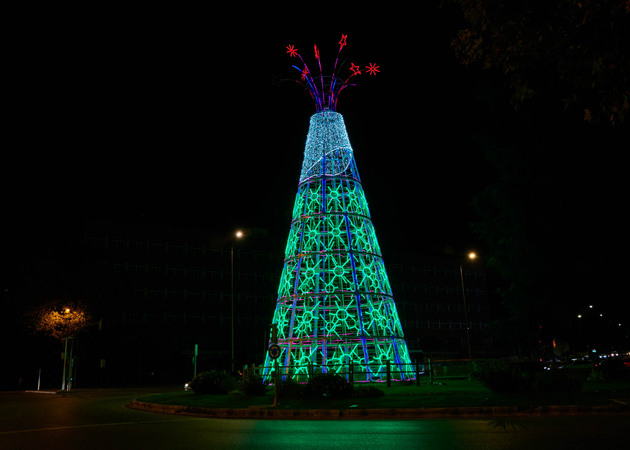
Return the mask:
M 273 324 L 284 375 L 314 372 L 347 373 L 355 380 L 413 377 L 394 297 L 370 218 L 361 178 L 341 114 L 339 94 L 352 86 L 361 68 L 349 66 L 349 76 L 337 76 L 339 42 L 333 70 L 325 76 L 319 49 L 314 75 L 298 50 L 299 83 L 313 97 L 304 162 L 295 197 L 284 267 L 278 287 Z M 379 66 L 364 67 L 369 75 Z M 273 361 L 267 355 L 265 377 Z

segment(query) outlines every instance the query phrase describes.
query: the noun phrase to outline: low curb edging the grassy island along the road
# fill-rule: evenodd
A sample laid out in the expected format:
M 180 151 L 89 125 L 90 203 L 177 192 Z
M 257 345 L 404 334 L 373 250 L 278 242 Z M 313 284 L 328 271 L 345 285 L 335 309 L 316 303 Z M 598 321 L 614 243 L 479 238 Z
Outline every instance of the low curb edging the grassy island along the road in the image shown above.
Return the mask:
M 203 408 L 199 406 L 160 405 L 133 400 L 127 408 L 157 414 L 174 414 L 221 419 L 440 419 L 491 418 L 497 416 L 629 414 L 625 405 L 592 406 L 481 406 L 461 408 L 380 408 L 380 409 L 273 409 L 273 408 Z

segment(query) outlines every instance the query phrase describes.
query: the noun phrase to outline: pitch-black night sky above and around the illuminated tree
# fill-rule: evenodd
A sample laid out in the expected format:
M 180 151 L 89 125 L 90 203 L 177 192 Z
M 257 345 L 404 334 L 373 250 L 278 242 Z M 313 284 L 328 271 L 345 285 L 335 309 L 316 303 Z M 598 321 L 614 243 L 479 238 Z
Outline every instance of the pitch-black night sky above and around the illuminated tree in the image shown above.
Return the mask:
M 3 301 L 23 302 L 12 303 L 17 314 L 49 295 L 57 266 L 63 273 L 73 258 L 80 265 L 72 246 L 86 219 L 224 236 L 264 228 L 282 252 L 315 113 L 286 46 L 313 67 L 316 44 L 327 70 L 345 34 L 342 72 L 350 63 L 380 66 L 341 94 L 337 110 L 386 265 L 401 254 L 455 258 L 475 249 L 495 318 L 520 317 L 523 292 L 536 322 L 522 330 L 547 320 L 548 333 L 568 336 L 593 304 L 605 320 L 596 317 L 601 328 L 592 334 L 622 322 L 627 345 L 627 119 L 586 124 L 581 107 L 559 105 L 554 89 L 565 86 L 553 83 L 517 111 L 504 74 L 457 60 L 451 40 L 465 24 L 441 3 L 423 2 L 420 11 L 313 4 L 308 13 L 293 11 L 303 5 L 278 13 L 239 3 L 13 17 L 0 177 Z M 545 70 L 535 71 L 538 81 Z M 481 217 L 471 202 L 499 182 L 504 210 Z M 490 229 L 505 221 L 507 233 L 489 243 L 471 231 L 480 221 Z M 506 279 L 488 260 L 497 255 L 509 266 Z M 514 280 L 507 298 L 516 306 L 505 306 L 496 288 Z M 16 325 L 16 314 L 4 319 Z

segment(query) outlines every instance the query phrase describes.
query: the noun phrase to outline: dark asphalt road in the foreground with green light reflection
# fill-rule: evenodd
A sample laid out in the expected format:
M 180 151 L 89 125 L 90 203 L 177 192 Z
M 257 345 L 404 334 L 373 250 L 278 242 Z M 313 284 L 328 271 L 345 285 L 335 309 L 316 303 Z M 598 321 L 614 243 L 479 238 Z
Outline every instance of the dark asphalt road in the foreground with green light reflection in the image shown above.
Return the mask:
M 151 390 L 0 392 L 0 449 L 627 448 L 630 415 L 425 420 L 226 420 L 124 407 Z

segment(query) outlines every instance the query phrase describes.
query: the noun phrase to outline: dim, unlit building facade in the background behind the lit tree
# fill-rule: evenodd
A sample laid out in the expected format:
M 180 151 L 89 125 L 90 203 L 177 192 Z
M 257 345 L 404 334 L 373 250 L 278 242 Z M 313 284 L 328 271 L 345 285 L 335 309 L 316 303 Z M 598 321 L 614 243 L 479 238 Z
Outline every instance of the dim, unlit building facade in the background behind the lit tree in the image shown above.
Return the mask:
M 195 345 L 198 372 L 230 370 L 232 305 L 236 367 L 263 363 L 284 266 L 265 230 L 250 229 L 235 240 L 229 232 L 92 221 L 82 245 L 100 283 L 101 294 L 90 303 L 102 320 L 101 330 L 82 340 L 84 383 L 188 381 Z M 460 261 L 409 254 L 389 260 L 412 361 L 466 358 Z M 464 264 L 462 273 L 472 356 L 486 357 L 485 271 L 474 263 Z

